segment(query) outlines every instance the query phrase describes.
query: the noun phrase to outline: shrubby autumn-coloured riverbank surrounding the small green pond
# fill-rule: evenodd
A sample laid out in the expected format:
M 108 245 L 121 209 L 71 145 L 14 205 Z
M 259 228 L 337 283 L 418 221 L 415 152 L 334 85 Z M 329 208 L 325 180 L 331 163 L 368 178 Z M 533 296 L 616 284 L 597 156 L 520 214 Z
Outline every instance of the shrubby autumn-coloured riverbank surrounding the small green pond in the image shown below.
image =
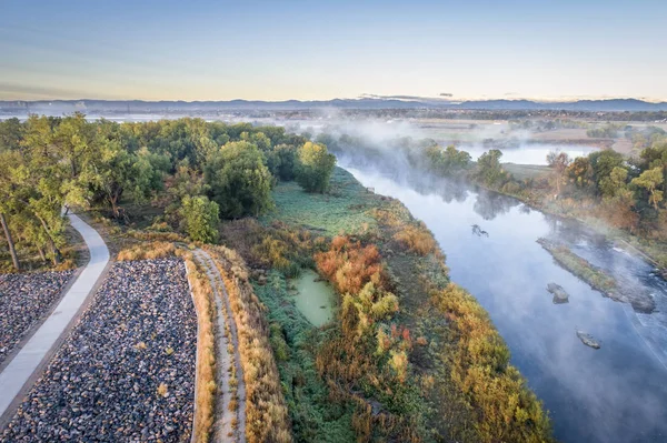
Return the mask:
M 551 441 L 490 319 L 450 283 L 431 233 L 402 204 L 341 169 L 331 194 L 279 183 L 273 195 L 275 212 L 229 223 L 222 240 L 268 308 L 296 441 Z M 289 295 L 302 268 L 339 294 L 322 328 Z

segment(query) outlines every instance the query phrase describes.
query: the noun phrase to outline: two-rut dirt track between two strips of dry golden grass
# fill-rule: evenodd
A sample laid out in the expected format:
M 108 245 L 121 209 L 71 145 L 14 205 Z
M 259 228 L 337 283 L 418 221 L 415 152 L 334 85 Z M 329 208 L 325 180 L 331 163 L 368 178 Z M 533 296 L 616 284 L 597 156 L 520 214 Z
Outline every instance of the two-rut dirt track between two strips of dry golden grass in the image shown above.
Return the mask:
M 197 261 L 206 270 L 216 301 L 216 342 L 218 351 L 216 355 L 216 381 L 218 391 L 216 395 L 216 421 L 211 430 L 211 441 L 243 443 L 246 442 L 246 383 L 241 369 L 237 326 L 231 315 L 231 303 L 225 289 L 222 275 L 220 275 L 218 268 L 208 252 L 198 249 L 193 253 Z M 229 330 L 226 333 L 227 326 Z M 229 351 L 230 344 L 233 348 L 233 359 Z M 235 411 L 231 411 L 229 407 L 235 396 L 232 386 L 230 385 L 232 360 L 238 383 L 236 389 L 237 407 Z M 237 423 L 236 427 L 233 423 Z

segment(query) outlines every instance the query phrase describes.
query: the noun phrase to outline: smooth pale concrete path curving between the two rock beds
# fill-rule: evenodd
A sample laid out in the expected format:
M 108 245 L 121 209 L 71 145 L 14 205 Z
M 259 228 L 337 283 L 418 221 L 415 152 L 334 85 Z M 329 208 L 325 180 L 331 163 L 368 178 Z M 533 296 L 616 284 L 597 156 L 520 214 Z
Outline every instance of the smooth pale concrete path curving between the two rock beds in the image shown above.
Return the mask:
M 36 379 L 33 374 L 44 360 L 48 361 L 54 344 L 67 332 L 109 263 L 109 250 L 100 234 L 77 215 L 68 217 L 86 241 L 90 261 L 53 312 L 0 373 L 0 417 L 13 413 L 16 407 L 12 405 L 18 405 L 20 399 L 17 402 L 14 400 L 30 387 Z

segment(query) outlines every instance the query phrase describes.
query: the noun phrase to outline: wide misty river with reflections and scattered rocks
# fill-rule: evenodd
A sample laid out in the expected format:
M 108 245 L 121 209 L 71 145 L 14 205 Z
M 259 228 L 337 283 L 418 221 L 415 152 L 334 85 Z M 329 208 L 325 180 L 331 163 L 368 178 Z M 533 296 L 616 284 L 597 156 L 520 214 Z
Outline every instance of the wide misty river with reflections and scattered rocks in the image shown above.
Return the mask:
M 577 223 L 515 199 L 444 181 L 416 182 L 405 171 L 380 173 L 358 159 L 339 155 L 339 163 L 365 187 L 399 199 L 432 231 L 452 281 L 491 315 L 511 362 L 549 411 L 557 439 L 667 441 L 667 284 L 650 265 Z M 536 243 L 542 236 L 644 286 L 663 312 L 635 313 L 604 298 L 558 266 Z M 569 293 L 569 303 L 552 302 L 546 290 L 551 282 Z M 577 330 L 599 340 L 601 349 L 584 345 Z

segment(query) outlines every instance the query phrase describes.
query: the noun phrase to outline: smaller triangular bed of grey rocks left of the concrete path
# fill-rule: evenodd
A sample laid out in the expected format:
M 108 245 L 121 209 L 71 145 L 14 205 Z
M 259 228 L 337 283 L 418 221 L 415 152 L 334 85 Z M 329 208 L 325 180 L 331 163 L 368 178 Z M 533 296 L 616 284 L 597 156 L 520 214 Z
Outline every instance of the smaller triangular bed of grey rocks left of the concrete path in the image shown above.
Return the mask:
M 73 273 L 0 274 L 0 364 L 60 299 Z

